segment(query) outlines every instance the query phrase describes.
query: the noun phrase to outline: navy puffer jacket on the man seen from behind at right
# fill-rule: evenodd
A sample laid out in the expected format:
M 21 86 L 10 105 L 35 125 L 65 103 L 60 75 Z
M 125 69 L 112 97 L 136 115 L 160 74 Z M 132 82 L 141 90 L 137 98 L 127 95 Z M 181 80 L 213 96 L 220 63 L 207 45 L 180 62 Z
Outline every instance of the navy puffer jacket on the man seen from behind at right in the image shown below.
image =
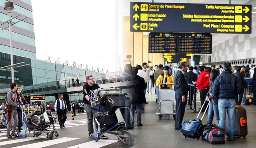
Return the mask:
M 231 71 L 223 71 L 214 80 L 212 94 L 215 99 L 235 99 L 243 89 L 243 84 Z

